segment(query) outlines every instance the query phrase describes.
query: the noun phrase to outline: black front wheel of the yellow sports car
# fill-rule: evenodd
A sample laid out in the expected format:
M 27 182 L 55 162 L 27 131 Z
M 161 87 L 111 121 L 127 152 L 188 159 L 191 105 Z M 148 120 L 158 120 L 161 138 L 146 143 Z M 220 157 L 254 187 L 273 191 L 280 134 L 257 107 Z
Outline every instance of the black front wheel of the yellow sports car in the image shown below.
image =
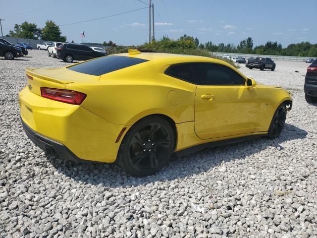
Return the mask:
M 285 125 L 286 120 L 286 106 L 281 104 L 275 111 L 271 124 L 268 128 L 267 138 L 274 139 L 278 137 Z

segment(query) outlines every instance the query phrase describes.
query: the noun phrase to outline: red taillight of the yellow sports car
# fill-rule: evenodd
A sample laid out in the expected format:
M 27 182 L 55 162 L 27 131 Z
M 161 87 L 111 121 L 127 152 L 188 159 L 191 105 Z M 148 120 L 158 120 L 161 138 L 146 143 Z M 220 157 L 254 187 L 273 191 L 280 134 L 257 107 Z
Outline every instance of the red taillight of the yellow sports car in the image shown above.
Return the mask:
M 55 101 L 80 105 L 86 98 L 86 94 L 71 90 L 41 87 L 41 95 Z

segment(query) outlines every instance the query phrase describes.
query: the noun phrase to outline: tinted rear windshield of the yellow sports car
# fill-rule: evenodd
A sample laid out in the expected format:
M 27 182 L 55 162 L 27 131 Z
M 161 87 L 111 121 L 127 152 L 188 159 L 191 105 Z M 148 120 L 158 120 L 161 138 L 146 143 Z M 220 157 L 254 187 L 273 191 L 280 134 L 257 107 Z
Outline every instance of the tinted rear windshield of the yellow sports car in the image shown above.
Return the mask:
M 139 58 L 132 58 L 126 56 L 106 56 L 83 62 L 74 66 L 68 67 L 68 69 L 85 73 L 90 75 L 100 76 L 105 73 L 109 73 L 121 68 L 126 68 L 135 64 L 143 63 L 149 60 L 143 60 Z

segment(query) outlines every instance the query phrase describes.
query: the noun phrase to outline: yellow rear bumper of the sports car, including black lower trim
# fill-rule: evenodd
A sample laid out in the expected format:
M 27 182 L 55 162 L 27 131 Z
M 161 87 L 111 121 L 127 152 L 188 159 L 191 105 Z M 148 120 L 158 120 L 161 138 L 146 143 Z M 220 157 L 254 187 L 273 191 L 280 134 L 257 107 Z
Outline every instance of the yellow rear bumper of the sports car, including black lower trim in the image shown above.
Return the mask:
M 124 135 L 118 143 L 116 138 L 129 127 L 110 123 L 81 106 L 43 98 L 28 87 L 19 93 L 19 104 L 21 119 L 31 129 L 30 139 L 64 159 L 112 163 Z

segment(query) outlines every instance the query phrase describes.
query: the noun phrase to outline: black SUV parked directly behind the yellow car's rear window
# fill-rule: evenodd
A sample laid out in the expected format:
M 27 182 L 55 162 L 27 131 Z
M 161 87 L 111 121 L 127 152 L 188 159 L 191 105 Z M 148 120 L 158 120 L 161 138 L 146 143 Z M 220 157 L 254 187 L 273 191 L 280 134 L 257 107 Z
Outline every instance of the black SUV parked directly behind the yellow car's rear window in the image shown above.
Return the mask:
M 90 60 L 101 56 L 106 56 L 106 52 L 94 51 L 83 44 L 65 44 L 60 45 L 56 49 L 58 59 L 65 62 L 72 62 L 73 60 Z

